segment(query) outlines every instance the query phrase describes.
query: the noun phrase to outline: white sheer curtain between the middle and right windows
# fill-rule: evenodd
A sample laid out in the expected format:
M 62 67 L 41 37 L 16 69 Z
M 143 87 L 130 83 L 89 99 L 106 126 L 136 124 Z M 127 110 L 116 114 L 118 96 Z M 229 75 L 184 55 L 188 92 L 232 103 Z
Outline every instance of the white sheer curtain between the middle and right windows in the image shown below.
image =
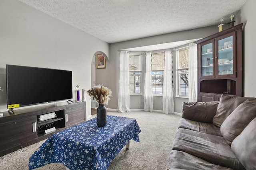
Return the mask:
M 172 51 L 166 51 L 164 56 L 164 90 L 163 113 L 174 113 L 172 87 Z

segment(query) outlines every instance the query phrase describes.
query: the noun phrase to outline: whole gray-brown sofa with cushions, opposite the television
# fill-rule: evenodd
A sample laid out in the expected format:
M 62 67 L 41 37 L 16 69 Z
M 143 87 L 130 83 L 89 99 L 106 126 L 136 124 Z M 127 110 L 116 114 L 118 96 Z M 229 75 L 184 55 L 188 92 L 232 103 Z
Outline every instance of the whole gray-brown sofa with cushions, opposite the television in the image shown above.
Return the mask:
M 184 103 L 166 170 L 256 170 L 256 98 Z

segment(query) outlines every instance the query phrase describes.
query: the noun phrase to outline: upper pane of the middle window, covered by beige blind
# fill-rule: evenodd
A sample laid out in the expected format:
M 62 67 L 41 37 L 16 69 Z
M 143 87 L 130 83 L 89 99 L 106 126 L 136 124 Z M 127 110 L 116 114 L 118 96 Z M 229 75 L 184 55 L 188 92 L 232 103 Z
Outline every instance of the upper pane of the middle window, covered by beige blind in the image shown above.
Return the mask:
M 151 56 L 151 70 L 164 70 L 164 53 L 154 53 Z

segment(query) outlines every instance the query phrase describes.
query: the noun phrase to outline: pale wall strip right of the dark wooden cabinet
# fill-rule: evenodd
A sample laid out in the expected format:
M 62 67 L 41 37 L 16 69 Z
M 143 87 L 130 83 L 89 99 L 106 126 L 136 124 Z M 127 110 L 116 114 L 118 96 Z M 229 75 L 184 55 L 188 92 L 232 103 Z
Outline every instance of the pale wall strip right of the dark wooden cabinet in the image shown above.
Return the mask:
M 256 98 L 256 1 L 247 0 L 236 21 L 244 23 L 243 33 L 243 57 L 244 57 L 244 96 Z

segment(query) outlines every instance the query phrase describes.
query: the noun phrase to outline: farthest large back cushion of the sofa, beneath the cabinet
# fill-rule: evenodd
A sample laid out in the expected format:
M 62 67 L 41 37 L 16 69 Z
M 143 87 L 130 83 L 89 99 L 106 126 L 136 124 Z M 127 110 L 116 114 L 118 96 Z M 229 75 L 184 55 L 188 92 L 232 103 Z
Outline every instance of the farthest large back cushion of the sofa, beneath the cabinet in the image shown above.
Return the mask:
M 234 109 L 236 109 L 237 106 L 247 99 L 248 98 L 245 97 L 222 94 L 212 123 L 220 127 L 224 120 L 234 111 Z

